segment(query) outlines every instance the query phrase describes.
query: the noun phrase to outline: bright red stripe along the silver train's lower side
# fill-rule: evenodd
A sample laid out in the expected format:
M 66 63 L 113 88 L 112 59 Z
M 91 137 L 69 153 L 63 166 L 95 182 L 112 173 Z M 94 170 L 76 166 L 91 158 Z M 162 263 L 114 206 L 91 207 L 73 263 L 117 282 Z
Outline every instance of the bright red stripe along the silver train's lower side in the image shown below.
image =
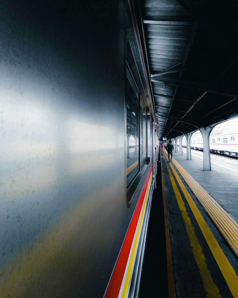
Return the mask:
M 140 211 L 141 211 L 141 208 L 143 205 L 145 193 L 146 193 L 147 186 L 148 186 L 148 183 L 150 180 L 151 171 L 152 171 L 152 164 L 151 164 L 149 173 L 147 175 L 147 178 L 145 180 L 145 184 L 143 186 L 142 192 L 140 194 L 140 198 L 139 198 L 137 205 L 135 207 L 134 214 L 131 218 L 131 222 L 130 222 L 129 228 L 127 230 L 127 233 L 126 233 L 126 237 L 124 239 L 122 248 L 120 250 L 120 254 L 118 256 L 117 263 L 113 270 L 112 277 L 109 281 L 107 291 L 104 295 L 104 298 L 118 297 L 121 283 L 122 283 L 123 276 L 124 276 L 124 272 L 126 269 L 126 263 L 127 263 L 128 257 L 129 257 L 130 249 L 131 249 L 131 244 L 132 244 L 132 241 L 134 238 L 137 222 L 138 222 L 138 219 L 140 216 Z

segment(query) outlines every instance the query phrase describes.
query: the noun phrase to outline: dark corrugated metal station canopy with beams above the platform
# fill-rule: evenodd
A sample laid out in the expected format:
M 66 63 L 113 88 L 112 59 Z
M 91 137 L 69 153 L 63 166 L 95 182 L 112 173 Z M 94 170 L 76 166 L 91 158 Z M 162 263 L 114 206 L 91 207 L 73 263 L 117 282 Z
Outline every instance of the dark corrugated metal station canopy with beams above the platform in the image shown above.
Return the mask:
M 142 0 L 135 10 L 159 139 L 237 117 L 238 1 Z

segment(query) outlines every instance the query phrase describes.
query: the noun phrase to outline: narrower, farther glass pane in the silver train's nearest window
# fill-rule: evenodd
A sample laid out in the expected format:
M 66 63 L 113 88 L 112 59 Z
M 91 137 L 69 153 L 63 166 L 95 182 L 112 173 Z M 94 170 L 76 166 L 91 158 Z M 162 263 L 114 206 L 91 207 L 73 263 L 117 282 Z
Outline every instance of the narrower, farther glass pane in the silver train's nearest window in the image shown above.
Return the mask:
M 146 162 L 146 109 L 140 100 L 140 168 Z

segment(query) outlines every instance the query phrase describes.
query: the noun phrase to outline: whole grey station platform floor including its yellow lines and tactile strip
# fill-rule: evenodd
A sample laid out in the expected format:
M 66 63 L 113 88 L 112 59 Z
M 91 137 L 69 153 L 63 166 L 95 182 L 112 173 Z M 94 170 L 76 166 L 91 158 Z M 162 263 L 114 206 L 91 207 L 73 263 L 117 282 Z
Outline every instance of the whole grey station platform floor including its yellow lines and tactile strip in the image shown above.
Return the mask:
M 169 163 L 164 149 L 160 160 L 169 298 L 238 298 L 238 173 L 216 164 L 203 171 L 203 160 L 186 154 Z

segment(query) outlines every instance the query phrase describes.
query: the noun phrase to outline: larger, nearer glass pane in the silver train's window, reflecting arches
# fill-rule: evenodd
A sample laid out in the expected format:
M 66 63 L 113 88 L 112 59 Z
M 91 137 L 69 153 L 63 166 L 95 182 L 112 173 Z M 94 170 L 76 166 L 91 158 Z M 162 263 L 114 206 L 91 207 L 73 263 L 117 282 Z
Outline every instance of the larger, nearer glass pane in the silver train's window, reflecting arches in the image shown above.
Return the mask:
M 139 92 L 126 70 L 126 186 L 139 172 Z

